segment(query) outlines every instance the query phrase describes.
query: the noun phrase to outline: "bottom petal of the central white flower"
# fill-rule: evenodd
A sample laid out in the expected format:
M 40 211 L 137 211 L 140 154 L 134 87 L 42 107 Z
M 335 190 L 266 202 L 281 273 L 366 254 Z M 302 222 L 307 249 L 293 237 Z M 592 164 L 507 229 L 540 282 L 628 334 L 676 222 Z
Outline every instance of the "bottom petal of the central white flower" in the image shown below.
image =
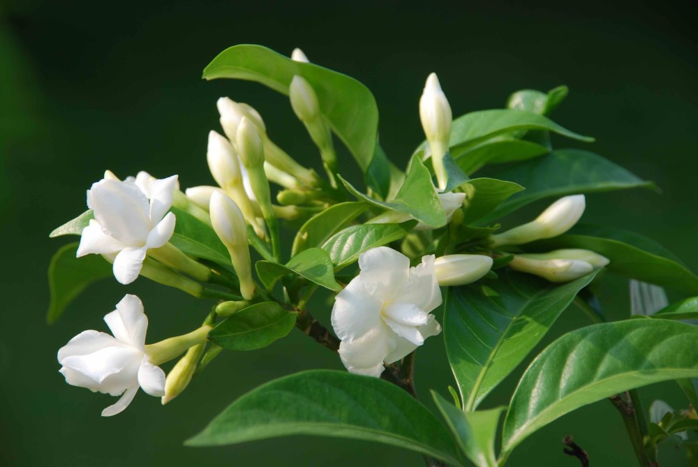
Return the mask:
M 339 356 L 351 373 L 378 378 L 383 373 L 383 360 L 396 346 L 395 337 L 380 323 L 360 339 L 341 341 Z

